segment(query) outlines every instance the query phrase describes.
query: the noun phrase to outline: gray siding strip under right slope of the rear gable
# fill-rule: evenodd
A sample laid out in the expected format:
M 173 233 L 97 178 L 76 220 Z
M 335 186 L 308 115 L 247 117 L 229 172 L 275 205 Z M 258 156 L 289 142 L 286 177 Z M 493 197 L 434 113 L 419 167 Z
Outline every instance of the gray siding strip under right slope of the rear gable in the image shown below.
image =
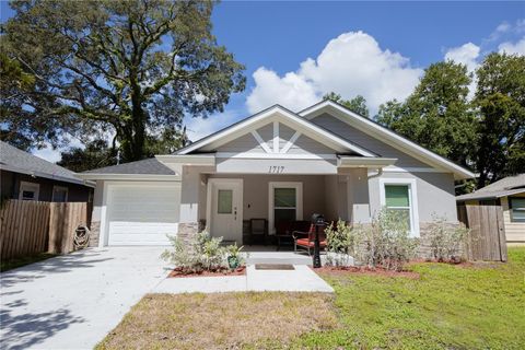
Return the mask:
M 396 166 L 429 167 L 430 165 L 395 149 L 394 147 L 364 133 L 329 114 L 323 114 L 312 119 L 318 126 L 338 135 L 339 137 L 361 145 L 374 153 L 386 158 L 397 158 Z

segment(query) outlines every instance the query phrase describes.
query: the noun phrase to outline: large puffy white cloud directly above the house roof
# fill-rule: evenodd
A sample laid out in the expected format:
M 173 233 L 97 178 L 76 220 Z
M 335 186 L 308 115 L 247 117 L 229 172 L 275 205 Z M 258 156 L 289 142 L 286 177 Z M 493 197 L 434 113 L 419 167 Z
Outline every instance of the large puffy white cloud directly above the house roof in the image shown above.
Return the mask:
M 346 98 L 364 96 L 374 114 L 388 100 L 406 98 L 421 74 L 408 58 L 383 50 L 369 34 L 350 32 L 331 39 L 316 59 L 304 60 L 298 71 L 282 78 L 266 68 L 257 69 L 246 104 L 250 113 L 276 103 L 300 110 L 334 91 Z

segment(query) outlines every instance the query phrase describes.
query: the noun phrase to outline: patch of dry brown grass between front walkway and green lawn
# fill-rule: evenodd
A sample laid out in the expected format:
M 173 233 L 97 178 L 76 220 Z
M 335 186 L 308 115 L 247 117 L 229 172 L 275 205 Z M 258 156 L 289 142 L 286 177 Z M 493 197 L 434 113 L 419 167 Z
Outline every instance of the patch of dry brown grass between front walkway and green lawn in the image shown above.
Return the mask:
M 328 293 L 149 294 L 96 349 L 267 349 L 338 327 Z

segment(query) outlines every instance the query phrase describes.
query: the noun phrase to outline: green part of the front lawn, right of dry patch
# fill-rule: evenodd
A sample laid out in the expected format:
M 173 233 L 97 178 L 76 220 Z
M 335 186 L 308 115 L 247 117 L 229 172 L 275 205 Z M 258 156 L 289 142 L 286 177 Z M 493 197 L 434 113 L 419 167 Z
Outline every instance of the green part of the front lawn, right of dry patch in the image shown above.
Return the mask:
M 418 264 L 421 278 L 323 276 L 342 327 L 296 348 L 525 349 L 525 248 L 508 264 Z

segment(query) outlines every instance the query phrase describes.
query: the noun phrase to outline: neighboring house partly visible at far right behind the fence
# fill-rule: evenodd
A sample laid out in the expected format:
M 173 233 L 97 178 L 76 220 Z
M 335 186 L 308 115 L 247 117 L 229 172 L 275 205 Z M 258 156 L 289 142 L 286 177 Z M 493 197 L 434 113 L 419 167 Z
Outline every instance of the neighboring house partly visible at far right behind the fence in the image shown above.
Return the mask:
M 502 178 L 456 199 L 474 206 L 501 206 L 508 244 L 525 244 L 525 174 Z

